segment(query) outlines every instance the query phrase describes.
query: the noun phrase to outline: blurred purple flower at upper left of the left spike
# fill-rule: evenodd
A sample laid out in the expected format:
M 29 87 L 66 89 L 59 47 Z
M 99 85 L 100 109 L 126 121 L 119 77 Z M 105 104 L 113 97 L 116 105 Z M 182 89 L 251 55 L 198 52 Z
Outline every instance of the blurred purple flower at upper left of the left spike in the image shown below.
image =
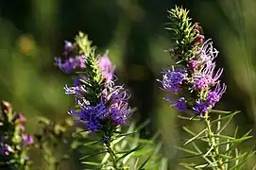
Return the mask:
M 63 61 L 60 58 L 55 58 L 55 65 L 64 73 L 69 74 L 74 70 L 84 69 L 85 59 L 85 56 L 77 56 L 76 58 L 64 59 Z

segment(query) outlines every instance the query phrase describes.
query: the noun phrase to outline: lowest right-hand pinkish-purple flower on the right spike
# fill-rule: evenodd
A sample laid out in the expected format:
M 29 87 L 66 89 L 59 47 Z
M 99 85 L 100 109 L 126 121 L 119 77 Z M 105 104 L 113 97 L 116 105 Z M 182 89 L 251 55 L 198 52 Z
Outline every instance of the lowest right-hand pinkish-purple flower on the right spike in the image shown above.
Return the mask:
M 207 103 L 209 105 L 214 106 L 221 98 L 222 94 L 225 93 L 227 90 L 227 86 L 223 84 L 223 86 L 220 86 L 220 83 L 218 83 L 213 91 L 210 91 L 207 94 Z

